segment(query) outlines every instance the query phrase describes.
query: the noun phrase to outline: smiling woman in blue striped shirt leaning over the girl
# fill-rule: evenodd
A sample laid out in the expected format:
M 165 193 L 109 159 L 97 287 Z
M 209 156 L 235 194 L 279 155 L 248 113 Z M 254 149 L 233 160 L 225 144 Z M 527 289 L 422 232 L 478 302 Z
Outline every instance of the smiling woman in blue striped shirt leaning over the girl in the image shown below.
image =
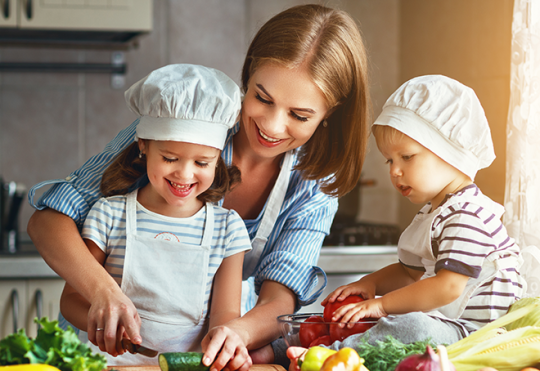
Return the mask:
M 260 348 L 250 353 L 255 363 L 275 362 L 269 344 L 279 337 L 276 317 L 314 302 L 322 292 L 312 292 L 322 272 L 315 266 L 322 240 L 337 210 L 336 197 L 358 182 L 368 136 L 367 61 L 355 22 L 319 5 L 276 15 L 249 47 L 242 88 L 241 118 L 222 153 L 227 165 L 241 170 L 242 183 L 222 206 L 240 214 L 252 239 L 243 270 L 249 311 L 211 329 L 203 340 L 204 362 L 214 361 L 215 370 L 226 364 L 247 370 L 251 359 L 237 353 L 240 345 Z M 136 125 L 66 180 L 53 181 L 36 205 L 43 210 L 28 225 L 45 261 L 91 303 L 89 340 L 108 351 L 115 349 L 118 325 L 140 343 L 140 320 L 88 253 L 77 225 L 100 197 L 108 160 L 131 142 Z

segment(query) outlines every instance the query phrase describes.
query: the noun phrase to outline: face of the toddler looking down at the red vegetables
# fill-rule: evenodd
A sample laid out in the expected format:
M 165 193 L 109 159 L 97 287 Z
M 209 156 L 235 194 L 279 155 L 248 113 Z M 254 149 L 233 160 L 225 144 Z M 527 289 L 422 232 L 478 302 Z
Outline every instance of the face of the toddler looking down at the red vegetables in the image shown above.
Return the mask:
M 468 176 L 406 135 L 377 145 L 390 165 L 392 184 L 414 204 L 431 202 L 434 210 L 448 193 L 472 183 Z

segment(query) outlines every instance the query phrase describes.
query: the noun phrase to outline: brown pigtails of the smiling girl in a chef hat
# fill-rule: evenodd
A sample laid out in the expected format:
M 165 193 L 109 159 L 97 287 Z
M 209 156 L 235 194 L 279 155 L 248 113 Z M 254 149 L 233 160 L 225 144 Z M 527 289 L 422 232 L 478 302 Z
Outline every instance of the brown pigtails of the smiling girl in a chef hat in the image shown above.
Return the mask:
M 120 152 L 103 173 L 101 193 L 105 197 L 127 194 L 137 179 L 144 174 L 146 174 L 146 157 L 139 158 L 139 146 L 134 142 Z M 219 201 L 240 181 L 240 170 L 236 166 L 227 167 L 220 157 L 212 186 L 197 198 L 202 202 Z

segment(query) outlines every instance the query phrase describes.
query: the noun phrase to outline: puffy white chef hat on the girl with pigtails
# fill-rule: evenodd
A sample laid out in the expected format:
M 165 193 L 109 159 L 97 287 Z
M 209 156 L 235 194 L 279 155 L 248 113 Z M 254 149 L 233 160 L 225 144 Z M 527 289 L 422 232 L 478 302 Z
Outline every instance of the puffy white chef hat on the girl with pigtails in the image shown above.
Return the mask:
M 135 140 L 173 140 L 223 149 L 238 119 L 240 88 L 213 68 L 172 64 L 151 72 L 124 94 L 141 116 Z

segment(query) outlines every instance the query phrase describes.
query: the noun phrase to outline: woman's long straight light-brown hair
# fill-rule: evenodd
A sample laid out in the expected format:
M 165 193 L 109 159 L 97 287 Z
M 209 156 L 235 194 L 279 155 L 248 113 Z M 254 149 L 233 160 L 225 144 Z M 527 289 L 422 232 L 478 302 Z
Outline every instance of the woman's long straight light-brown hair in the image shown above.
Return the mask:
M 295 68 L 306 64 L 331 115 L 299 152 L 296 169 L 319 180 L 324 193 L 343 196 L 362 171 L 369 134 L 371 102 L 367 57 L 355 21 L 345 12 L 300 5 L 264 24 L 248 49 L 242 88 L 265 63 Z

